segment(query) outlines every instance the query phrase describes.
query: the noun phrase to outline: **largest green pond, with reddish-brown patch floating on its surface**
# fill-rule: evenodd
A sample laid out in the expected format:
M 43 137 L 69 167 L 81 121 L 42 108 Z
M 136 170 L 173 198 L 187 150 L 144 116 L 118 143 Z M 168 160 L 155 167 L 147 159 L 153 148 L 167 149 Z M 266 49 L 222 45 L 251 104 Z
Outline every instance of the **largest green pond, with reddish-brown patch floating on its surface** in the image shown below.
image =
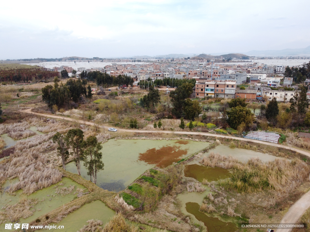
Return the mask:
M 108 140 L 102 144 L 104 170 L 97 174 L 96 184 L 109 191 L 121 191 L 146 170 L 167 167 L 207 146 L 207 142 L 187 140 Z M 74 162 L 67 164 L 66 170 L 77 173 Z M 81 175 L 90 180 L 83 165 Z

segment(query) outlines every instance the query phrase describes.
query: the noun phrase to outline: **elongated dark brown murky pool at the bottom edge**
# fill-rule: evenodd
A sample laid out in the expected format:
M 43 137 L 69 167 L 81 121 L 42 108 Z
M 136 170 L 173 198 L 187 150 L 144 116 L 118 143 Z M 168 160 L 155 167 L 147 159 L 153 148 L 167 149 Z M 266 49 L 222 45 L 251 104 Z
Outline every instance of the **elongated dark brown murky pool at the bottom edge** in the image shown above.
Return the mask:
M 217 217 L 209 217 L 199 211 L 199 204 L 196 202 L 187 202 L 186 211 L 193 214 L 195 218 L 204 223 L 208 232 L 234 232 L 238 230 L 232 222 L 224 222 Z

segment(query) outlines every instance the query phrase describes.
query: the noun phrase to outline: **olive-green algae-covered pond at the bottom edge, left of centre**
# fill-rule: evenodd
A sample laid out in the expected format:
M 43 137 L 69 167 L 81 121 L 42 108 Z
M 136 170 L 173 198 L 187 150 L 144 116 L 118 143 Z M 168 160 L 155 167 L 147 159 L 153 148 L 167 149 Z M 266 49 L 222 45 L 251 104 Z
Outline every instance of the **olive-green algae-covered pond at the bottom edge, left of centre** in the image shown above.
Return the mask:
M 90 219 L 98 219 L 105 225 L 110 218 L 113 217 L 114 213 L 115 212 L 102 203 L 102 201 L 96 200 L 89 204 L 85 204 L 73 213 L 70 213 L 59 223 L 50 224 L 64 226 L 64 229 L 51 229 L 48 231 L 75 232 L 81 229 L 84 225 L 88 225 L 86 221 Z M 46 231 L 46 229 L 37 231 Z

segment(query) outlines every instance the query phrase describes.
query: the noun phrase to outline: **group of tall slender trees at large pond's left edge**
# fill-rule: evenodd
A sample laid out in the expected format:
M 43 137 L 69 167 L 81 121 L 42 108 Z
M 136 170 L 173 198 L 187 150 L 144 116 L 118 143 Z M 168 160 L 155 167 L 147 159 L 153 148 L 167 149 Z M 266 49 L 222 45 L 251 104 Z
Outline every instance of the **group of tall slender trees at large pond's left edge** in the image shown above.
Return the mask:
M 93 183 L 97 182 L 97 173 L 104 170 L 102 162 L 102 145 L 95 136 L 89 136 L 84 140 L 84 134 L 81 129 L 70 129 L 66 135 L 57 132 L 53 138 L 57 143 L 57 155 L 61 157 L 62 167 L 66 170 L 66 161 L 69 155 L 73 156 L 73 161 L 77 167 L 78 175 L 81 175 L 81 163 L 87 169 L 87 175 Z M 69 152 L 69 149 L 72 152 Z

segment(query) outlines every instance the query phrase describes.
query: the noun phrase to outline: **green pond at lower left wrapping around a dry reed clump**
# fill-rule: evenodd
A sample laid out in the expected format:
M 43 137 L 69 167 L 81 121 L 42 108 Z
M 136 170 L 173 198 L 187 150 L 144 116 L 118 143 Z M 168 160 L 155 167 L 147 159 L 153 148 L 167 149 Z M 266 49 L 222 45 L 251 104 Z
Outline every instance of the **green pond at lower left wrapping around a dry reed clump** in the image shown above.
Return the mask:
M 17 182 L 17 179 L 11 180 L 11 183 L 10 181 L 7 181 L 2 187 L 3 189 L 6 189 L 10 184 L 13 184 L 16 182 Z M 68 195 L 64 195 L 64 196 L 57 195 L 55 193 L 54 187 L 55 185 L 60 184 L 60 183 L 63 183 L 64 185 L 58 186 L 59 188 L 68 187 L 69 185 L 74 185 L 75 188 L 73 192 Z M 26 219 L 21 218 L 19 223 L 30 223 L 31 221 L 35 220 L 41 215 L 48 213 L 54 210 L 55 208 L 58 208 L 62 206 L 63 204 L 66 204 L 70 202 L 71 200 L 73 200 L 73 198 L 77 195 L 77 194 L 73 195 L 73 193 L 75 192 L 77 188 L 86 189 L 84 186 L 66 177 L 62 178 L 62 180 L 57 184 L 51 185 L 50 187 L 47 187 L 47 188 L 43 188 L 41 190 L 38 190 L 30 194 L 29 196 L 26 196 L 27 198 L 38 198 L 40 201 L 38 204 L 34 206 L 34 208 L 32 208 L 32 209 L 35 209 L 35 212 L 33 213 L 33 215 Z M 6 204 L 17 203 L 21 197 L 25 197 L 25 195 L 22 194 L 22 190 L 16 191 L 15 195 L 9 195 L 7 192 L 2 193 L 0 195 L 0 208 L 2 208 L 2 206 Z M 0 225 L 0 231 L 2 231 L 2 229 L 4 230 L 3 223 Z

